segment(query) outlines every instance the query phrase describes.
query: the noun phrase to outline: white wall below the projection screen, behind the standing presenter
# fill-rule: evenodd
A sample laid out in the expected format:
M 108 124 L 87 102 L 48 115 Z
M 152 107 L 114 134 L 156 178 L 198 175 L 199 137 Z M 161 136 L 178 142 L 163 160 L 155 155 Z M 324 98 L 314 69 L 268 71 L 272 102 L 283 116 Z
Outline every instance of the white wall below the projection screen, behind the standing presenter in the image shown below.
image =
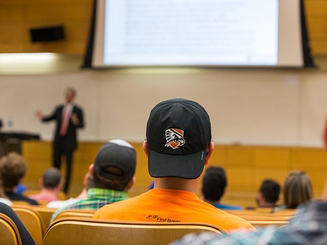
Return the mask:
M 184 97 L 211 116 L 218 143 L 321 145 L 327 105 L 327 72 L 312 70 L 134 69 L 0 76 L 0 118 L 13 130 L 51 139 L 54 124 L 41 124 L 63 90 L 78 90 L 86 128 L 81 140 L 142 141 L 149 112 L 158 102 Z M 8 127 L 3 129 L 8 130 Z

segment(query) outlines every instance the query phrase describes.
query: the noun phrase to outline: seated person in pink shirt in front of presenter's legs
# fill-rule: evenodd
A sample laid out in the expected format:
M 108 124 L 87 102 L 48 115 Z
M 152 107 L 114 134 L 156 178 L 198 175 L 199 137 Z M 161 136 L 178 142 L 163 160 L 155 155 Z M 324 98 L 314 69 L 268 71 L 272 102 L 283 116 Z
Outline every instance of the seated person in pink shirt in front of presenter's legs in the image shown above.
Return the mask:
M 58 200 L 58 194 L 62 188 L 60 171 L 56 167 L 51 167 L 44 171 L 39 180 L 41 192 L 29 195 L 30 199 L 42 202 L 51 202 Z

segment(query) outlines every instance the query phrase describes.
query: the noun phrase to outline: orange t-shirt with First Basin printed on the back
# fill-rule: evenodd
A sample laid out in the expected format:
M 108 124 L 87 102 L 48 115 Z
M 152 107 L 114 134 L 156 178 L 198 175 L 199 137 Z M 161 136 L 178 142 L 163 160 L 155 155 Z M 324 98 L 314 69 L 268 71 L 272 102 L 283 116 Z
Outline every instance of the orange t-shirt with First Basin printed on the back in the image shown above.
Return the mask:
M 215 225 L 226 232 L 255 230 L 246 220 L 201 201 L 196 194 L 175 189 L 152 189 L 138 197 L 105 205 L 94 218 L 146 222 L 190 222 Z

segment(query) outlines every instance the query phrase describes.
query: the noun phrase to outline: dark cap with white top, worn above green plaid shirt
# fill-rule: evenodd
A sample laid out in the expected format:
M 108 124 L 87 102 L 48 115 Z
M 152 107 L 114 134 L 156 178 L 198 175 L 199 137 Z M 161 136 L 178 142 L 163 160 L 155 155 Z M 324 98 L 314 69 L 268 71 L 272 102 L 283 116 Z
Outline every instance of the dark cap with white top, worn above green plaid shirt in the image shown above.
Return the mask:
M 108 166 L 118 167 L 123 175 L 110 174 L 104 170 Z M 131 144 L 122 139 L 113 139 L 105 142 L 94 162 L 94 171 L 99 176 L 108 180 L 129 182 L 136 168 L 136 152 Z

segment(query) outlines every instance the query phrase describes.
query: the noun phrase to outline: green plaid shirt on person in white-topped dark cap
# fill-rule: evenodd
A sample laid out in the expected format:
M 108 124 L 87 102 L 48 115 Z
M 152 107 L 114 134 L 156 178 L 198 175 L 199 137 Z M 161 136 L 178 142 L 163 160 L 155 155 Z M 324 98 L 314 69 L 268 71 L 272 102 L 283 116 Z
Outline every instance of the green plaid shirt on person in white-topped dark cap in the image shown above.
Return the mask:
M 64 208 L 58 208 L 57 211 L 52 215 L 51 223 L 54 222 L 58 213 L 66 209 L 94 209 L 97 210 L 102 208 L 104 205 L 119 202 L 128 199 L 126 191 L 110 190 L 102 188 L 90 188 L 87 191 L 87 198 L 84 200 L 77 201 Z

